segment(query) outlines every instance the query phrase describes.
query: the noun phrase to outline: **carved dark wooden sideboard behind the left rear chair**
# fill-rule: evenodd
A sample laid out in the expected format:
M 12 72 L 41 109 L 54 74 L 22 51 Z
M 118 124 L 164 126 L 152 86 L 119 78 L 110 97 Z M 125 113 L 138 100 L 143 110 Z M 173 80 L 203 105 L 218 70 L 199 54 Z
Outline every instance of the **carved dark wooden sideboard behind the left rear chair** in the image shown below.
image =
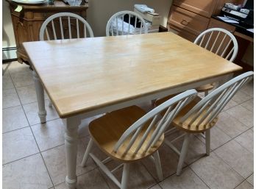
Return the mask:
M 26 41 L 39 40 L 39 30 L 43 21 L 55 13 L 75 13 L 86 19 L 88 4 L 85 1 L 80 6 L 73 7 L 55 0 L 54 4 L 28 5 L 17 4 L 14 1 L 6 0 L 10 4 L 10 13 L 13 21 L 13 30 L 17 46 L 17 57 L 19 63 L 29 64 L 29 58 L 26 55 L 22 43 Z M 21 12 L 16 12 L 18 5 L 22 6 Z

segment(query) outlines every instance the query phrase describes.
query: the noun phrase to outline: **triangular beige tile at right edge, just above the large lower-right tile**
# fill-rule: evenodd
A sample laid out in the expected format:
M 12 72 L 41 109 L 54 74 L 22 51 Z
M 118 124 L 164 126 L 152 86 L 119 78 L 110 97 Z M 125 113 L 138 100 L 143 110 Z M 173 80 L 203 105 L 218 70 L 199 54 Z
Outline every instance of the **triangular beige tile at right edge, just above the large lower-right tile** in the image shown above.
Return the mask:
M 253 131 L 249 129 L 243 134 L 239 135 L 235 140 L 241 144 L 244 148 L 251 151 L 253 153 Z

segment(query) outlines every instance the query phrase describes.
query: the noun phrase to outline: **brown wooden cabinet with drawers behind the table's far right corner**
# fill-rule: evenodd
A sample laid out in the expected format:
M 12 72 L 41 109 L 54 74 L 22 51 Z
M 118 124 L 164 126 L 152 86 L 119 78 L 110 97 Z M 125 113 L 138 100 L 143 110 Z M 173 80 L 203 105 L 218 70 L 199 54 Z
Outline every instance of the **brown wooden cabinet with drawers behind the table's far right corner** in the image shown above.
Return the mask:
M 168 16 L 168 29 L 187 40 L 195 40 L 205 29 L 218 26 L 210 21 L 213 14 L 219 14 L 225 2 L 242 3 L 242 0 L 174 0 Z M 227 24 L 228 25 L 228 24 Z M 220 26 L 221 27 L 221 26 Z M 222 27 L 226 29 L 225 27 Z M 227 26 L 227 30 L 234 32 Z

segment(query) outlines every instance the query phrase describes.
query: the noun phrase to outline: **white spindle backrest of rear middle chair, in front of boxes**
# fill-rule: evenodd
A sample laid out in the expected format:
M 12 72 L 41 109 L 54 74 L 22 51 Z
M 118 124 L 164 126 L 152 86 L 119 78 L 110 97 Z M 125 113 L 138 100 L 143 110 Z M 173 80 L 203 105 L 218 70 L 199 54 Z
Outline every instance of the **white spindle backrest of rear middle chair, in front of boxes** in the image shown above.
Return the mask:
M 128 21 L 128 22 L 127 22 Z M 134 22 L 134 26 L 132 23 Z M 147 33 L 146 22 L 138 13 L 124 10 L 115 13 L 107 21 L 106 36 Z

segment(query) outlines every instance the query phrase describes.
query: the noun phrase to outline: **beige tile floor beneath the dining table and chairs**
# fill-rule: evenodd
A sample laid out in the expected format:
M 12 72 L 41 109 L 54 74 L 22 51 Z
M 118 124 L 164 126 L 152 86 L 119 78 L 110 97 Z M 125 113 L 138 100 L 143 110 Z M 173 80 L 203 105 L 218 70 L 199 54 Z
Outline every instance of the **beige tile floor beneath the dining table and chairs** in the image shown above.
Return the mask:
M 3 69 L 3 188 L 32 189 L 65 187 L 65 151 L 63 123 L 51 107 L 47 122 L 40 124 L 32 71 L 17 62 L 4 64 Z M 48 103 L 46 96 L 46 104 Z M 77 188 L 116 188 L 92 160 L 82 168 L 82 155 L 88 143 L 87 125 L 79 126 L 77 157 Z M 253 82 L 227 104 L 212 129 L 212 152 L 205 157 L 204 140 L 195 136 L 185 160 L 181 176 L 176 176 L 177 156 L 163 145 L 160 157 L 162 182 L 157 182 L 154 166 L 149 160 L 132 166 L 129 188 L 244 189 L 253 188 Z M 182 140 L 177 141 L 181 146 Z M 98 157 L 104 158 L 94 148 Z M 164 155 L 163 155 L 164 154 Z M 108 163 L 113 166 L 115 162 Z M 121 176 L 121 171 L 116 173 Z

